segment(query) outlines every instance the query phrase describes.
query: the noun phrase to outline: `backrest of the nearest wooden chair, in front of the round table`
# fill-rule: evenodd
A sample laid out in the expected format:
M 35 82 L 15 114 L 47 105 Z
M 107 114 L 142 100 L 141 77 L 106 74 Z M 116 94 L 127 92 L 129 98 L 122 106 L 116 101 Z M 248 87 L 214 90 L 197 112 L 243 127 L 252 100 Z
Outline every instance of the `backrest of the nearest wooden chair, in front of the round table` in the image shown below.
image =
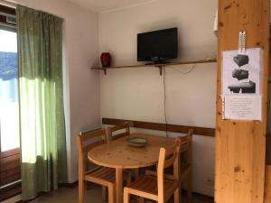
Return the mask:
M 164 169 L 173 165 L 173 180 L 180 181 L 180 151 L 181 140 L 176 138 L 176 143 L 170 148 L 161 148 L 159 153 L 159 161 L 157 164 L 157 185 L 158 198 L 165 197 L 164 194 Z

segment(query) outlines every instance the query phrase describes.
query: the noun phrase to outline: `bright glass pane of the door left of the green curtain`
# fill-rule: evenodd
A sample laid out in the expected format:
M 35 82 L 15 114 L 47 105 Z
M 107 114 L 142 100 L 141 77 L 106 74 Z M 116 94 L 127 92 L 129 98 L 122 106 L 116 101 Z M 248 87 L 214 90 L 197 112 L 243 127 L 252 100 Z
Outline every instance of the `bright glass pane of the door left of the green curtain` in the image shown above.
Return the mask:
M 19 105 L 16 32 L 0 30 L 1 152 L 19 148 Z

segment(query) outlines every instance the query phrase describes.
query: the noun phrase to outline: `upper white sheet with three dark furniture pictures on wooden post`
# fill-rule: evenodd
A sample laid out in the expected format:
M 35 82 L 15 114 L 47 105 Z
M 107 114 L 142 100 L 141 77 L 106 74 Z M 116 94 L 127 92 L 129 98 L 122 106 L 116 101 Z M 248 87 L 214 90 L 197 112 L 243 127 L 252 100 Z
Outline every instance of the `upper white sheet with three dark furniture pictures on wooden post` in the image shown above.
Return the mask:
M 222 92 L 228 94 L 260 94 L 261 49 L 223 52 Z

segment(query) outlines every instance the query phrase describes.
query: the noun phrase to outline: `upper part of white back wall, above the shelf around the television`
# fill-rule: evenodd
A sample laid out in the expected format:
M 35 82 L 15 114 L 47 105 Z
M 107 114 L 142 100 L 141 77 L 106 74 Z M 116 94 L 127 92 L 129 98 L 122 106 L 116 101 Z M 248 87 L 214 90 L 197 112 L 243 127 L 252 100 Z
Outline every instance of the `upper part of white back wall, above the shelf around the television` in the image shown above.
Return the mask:
M 213 34 L 217 0 L 155 0 L 99 16 L 100 51 L 110 51 L 115 64 L 136 61 L 136 34 L 178 27 L 179 56 L 200 60 L 216 56 Z

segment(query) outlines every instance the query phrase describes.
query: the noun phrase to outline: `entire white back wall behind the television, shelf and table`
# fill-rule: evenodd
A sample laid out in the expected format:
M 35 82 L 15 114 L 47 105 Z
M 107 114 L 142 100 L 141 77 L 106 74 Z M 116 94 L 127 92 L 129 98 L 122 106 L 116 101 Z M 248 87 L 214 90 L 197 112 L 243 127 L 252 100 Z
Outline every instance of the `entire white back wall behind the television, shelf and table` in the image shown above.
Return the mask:
M 99 50 L 111 52 L 115 65 L 135 64 L 138 32 L 178 27 L 179 60 L 214 57 L 216 37 L 212 29 L 217 5 L 217 0 L 156 0 L 102 13 Z M 166 69 L 168 123 L 214 128 L 216 63 L 192 68 L 187 65 Z M 191 69 L 188 74 L 178 72 Z M 112 69 L 107 76 L 100 73 L 100 111 L 102 117 L 163 123 L 164 87 L 158 69 Z M 193 189 L 213 195 L 213 182 L 208 179 L 214 177 L 214 138 L 195 135 L 193 146 Z

